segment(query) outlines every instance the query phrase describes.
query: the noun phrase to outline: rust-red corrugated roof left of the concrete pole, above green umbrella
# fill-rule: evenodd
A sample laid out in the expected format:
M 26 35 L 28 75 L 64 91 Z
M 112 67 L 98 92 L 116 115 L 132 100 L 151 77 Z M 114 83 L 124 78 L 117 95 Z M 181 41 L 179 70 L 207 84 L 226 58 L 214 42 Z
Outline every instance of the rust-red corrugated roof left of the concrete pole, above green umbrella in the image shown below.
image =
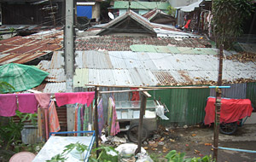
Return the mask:
M 40 32 L 26 37 L 14 37 L 0 41 L 0 65 L 26 63 L 50 52 L 61 49 L 63 31 Z

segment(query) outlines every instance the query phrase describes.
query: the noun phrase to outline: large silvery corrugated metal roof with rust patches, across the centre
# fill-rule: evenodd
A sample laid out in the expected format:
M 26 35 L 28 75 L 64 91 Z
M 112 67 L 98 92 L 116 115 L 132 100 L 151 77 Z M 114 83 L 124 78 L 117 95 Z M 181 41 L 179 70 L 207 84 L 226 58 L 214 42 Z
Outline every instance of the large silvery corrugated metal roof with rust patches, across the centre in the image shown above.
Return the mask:
M 165 85 L 211 84 L 218 78 L 218 57 L 215 55 L 181 55 L 166 53 L 135 53 L 131 51 L 77 52 L 78 68 L 74 85 Z M 60 55 L 55 52 L 54 55 Z M 108 58 L 108 63 L 102 61 Z M 86 61 L 84 61 L 84 59 Z M 97 63 L 92 63 L 98 61 Z M 54 61 L 52 61 L 54 64 Z M 85 68 L 84 68 L 85 67 Z M 82 68 L 82 69 L 79 69 Z M 57 71 L 59 72 L 59 71 Z M 253 62 L 224 60 L 223 79 L 256 78 Z M 55 75 L 53 75 L 55 76 Z

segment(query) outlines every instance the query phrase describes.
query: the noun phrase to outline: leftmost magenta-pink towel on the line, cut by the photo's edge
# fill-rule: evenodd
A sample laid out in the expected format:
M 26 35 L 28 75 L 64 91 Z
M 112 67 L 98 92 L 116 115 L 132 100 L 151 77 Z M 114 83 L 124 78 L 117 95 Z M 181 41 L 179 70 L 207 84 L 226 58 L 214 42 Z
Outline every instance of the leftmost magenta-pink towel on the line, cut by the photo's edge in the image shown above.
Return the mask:
M 15 94 L 0 94 L 0 116 L 15 116 L 17 100 Z

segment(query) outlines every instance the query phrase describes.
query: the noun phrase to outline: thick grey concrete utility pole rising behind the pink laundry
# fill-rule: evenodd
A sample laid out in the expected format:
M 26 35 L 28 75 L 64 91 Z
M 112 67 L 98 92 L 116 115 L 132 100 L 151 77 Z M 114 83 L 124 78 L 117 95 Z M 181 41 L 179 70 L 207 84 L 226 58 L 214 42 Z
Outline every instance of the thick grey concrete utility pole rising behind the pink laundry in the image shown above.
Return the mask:
M 65 24 L 65 71 L 66 71 L 66 91 L 73 92 L 73 0 L 66 1 L 66 24 Z M 73 131 L 74 128 L 74 110 L 73 107 L 67 105 L 67 130 Z

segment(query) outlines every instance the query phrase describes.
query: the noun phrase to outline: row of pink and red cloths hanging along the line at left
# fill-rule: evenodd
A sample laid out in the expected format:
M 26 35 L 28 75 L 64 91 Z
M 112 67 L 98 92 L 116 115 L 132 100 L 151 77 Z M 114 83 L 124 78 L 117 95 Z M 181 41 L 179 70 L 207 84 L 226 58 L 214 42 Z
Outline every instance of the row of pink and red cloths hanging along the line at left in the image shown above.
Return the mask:
M 55 93 L 58 107 L 66 104 L 81 103 L 90 106 L 95 92 Z M 17 100 L 18 98 L 18 100 Z M 42 108 L 48 108 L 50 95 L 40 94 L 0 94 L 0 116 L 15 116 L 15 110 L 21 113 L 36 113 L 38 104 Z M 17 102 L 19 101 L 19 107 Z

